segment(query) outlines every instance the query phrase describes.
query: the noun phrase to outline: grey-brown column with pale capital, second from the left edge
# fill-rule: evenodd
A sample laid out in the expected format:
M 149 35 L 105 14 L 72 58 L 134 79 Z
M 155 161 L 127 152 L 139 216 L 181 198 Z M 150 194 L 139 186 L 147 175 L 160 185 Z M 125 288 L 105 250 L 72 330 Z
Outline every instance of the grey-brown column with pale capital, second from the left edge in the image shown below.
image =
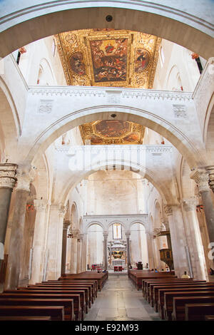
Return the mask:
M 24 237 L 24 222 L 26 202 L 29 197 L 30 185 L 33 180 L 31 168 L 17 171 L 16 202 L 12 220 L 11 239 L 9 244 L 9 259 L 6 273 L 6 289 L 16 289 L 19 286 L 21 270 L 21 245 Z

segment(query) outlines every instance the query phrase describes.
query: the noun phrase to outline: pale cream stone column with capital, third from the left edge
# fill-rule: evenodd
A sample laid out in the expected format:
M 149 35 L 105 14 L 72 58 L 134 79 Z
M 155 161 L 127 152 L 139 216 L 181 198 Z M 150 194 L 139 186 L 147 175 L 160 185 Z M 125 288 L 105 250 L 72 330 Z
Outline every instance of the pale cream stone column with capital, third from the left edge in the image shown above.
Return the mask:
M 45 241 L 45 227 L 46 227 L 46 208 L 48 200 L 34 200 L 34 207 L 36 209 L 36 219 L 34 225 L 34 239 L 33 239 L 33 254 L 30 283 L 42 281 L 43 267 L 44 267 L 44 241 Z

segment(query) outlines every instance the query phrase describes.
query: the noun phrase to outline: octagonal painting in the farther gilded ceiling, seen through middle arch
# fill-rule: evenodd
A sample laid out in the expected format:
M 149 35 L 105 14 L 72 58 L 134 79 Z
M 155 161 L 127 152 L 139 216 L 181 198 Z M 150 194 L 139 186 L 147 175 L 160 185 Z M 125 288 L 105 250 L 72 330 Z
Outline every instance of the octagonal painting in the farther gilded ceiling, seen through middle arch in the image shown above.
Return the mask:
M 96 123 L 97 133 L 108 138 L 120 137 L 128 132 L 130 125 L 126 121 L 120 120 L 102 120 Z

